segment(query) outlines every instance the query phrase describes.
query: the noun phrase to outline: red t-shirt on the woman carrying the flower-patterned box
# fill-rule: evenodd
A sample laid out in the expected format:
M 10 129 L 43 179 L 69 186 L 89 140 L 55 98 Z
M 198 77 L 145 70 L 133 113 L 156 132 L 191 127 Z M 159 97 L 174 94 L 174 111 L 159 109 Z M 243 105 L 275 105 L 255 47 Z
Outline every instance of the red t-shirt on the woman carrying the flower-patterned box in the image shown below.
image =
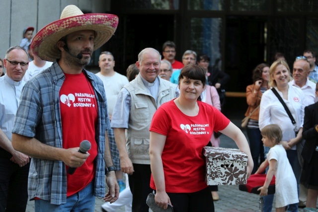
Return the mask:
M 154 114 L 150 131 L 166 136 L 161 154 L 166 192 L 193 193 L 207 187 L 202 149 L 213 131 L 224 130 L 230 120 L 211 105 L 198 105 L 199 114 L 193 117 L 183 114 L 173 100 Z M 153 176 L 150 187 L 156 190 Z

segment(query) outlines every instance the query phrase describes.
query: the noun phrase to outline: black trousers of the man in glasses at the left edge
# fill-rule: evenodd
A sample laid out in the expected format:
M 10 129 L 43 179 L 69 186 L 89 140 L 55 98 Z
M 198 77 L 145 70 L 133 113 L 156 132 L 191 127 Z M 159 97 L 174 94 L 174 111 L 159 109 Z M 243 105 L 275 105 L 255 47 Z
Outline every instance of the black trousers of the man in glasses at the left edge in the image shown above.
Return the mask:
M 3 149 L 1 149 L 3 151 Z M 25 212 L 30 163 L 23 167 L 0 151 L 0 212 Z

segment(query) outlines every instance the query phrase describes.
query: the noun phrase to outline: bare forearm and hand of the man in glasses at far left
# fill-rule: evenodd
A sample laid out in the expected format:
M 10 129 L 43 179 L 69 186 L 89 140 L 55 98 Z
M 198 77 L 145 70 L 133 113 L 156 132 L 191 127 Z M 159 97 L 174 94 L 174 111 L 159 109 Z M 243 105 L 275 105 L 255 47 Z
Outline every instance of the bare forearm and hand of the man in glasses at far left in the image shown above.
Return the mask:
M 16 151 L 13 146 L 12 142 L 8 139 L 8 137 L 3 133 L 3 131 L 0 129 L 0 147 L 4 150 L 10 152 L 12 154 L 13 158 L 10 160 L 16 164 L 18 164 L 20 167 L 25 166 L 27 163 L 29 163 L 29 156 Z

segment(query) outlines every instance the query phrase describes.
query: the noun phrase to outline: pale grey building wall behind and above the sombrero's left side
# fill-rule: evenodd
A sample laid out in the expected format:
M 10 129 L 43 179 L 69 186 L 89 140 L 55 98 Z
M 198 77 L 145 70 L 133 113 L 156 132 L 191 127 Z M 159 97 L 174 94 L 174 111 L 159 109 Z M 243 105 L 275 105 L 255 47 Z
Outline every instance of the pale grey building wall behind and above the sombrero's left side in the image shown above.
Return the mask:
M 23 30 L 34 27 L 33 36 L 47 24 L 60 19 L 65 6 L 74 4 L 84 13 L 105 13 L 110 0 L 0 0 L 0 58 L 10 46 L 19 45 Z

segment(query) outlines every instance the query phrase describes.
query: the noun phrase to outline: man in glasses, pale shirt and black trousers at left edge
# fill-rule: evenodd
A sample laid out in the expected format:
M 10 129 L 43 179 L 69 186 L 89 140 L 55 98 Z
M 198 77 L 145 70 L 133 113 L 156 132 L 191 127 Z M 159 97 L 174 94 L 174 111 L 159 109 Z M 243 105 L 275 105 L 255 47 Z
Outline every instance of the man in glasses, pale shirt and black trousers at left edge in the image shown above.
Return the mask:
M 4 76 L 0 77 L 0 211 L 25 212 L 29 156 L 14 150 L 11 143 L 15 114 L 25 82 L 29 57 L 25 49 L 10 47 L 5 54 Z

